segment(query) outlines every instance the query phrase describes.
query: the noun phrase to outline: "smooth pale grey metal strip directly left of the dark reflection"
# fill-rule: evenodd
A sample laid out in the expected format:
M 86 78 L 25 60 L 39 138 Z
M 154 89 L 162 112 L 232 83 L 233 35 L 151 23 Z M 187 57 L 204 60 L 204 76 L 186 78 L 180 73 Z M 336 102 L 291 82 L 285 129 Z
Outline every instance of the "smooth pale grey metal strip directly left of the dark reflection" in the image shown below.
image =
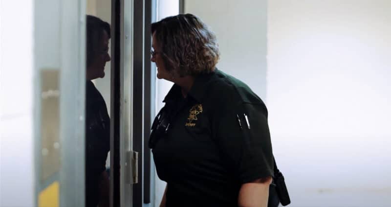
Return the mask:
M 87 2 L 86 0 L 61 1 L 60 5 L 62 8 L 60 10 L 62 38 L 60 206 L 85 206 Z

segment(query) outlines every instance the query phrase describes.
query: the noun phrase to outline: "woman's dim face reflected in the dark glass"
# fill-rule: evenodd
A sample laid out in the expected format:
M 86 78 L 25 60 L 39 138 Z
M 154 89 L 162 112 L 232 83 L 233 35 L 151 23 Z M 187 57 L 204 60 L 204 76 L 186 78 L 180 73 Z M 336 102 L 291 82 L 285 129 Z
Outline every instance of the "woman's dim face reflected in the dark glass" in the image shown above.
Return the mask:
M 87 79 L 92 80 L 95 78 L 105 77 L 105 65 L 111 60 L 109 55 L 109 35 L 106 31 L 102 31 L 103 35 L 101 40 L 97 43 L 97 54 L 94 61 L 87 68 Z

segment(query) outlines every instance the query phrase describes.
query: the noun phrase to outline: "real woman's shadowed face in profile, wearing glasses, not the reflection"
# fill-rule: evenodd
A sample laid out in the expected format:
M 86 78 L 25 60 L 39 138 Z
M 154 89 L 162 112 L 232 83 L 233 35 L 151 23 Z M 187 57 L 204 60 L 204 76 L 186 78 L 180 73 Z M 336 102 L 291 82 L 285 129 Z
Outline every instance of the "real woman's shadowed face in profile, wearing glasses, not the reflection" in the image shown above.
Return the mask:
M 164 65 L 163 57 L 161 54 L 161 46 L 156 40 L 156 32 L 153 32 L 152 35 L 152 50 L 154 51 L 151 57 L 151 61 L 156 64 L 156 71 L 157 71 L 157 78 L 159 79 L 166 79 L 171 81 L 171 75 L 170 73 L 166 70 L 166 67 Z

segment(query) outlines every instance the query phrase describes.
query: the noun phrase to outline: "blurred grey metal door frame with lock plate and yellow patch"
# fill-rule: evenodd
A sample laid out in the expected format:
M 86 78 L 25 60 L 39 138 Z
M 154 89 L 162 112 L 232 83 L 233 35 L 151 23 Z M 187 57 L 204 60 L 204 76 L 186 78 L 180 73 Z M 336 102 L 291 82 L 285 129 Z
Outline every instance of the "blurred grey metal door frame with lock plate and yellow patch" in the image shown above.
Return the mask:
M 53 205 L 85 206 L 86 0 L 56 0 L 51 3 L 34 3 L 34 203 L 39 206 L 41 193 L 49 190 L 45 199 L 51 199 Z M 45 10 L 55 11 L 54 19 L 59 19 L 57 24 L 47 24 L 46 20 L 54 13 L 43 12 Z M 53 35 L 50 34 L 52 30 L 60 34 L 58 47 L 50 51 L 59 54 L 59 62 L 55 66 L 49 63 L 50 67 L 47 67 L 47 61 L 43 60 L 47 60 L 44 55 L 48 49 L 41 35 Z M 56 73 L 58 88 L 43 91 L 43 83 L 49 80 L 44 78 L 47 77 L 43 75 L 46 72 Z M 59 100 L 59 117 L 53 120 L 59 123 L 59 129 L 52 134 L 58 136 L 59 141 L 50 144 L 60 151 L 60 167 L 48 179 L 42 178 L 45 168 L 42 156 L 50 156 L 49 149 L 42 148 L 43 130 L 50 130 L 43 126 L 43 121 L 50 120 L 41 120 L 41 113 L 45 110 L 42 107 L 43 93 Z M 46 188 L 49 184 L 53 188 Z

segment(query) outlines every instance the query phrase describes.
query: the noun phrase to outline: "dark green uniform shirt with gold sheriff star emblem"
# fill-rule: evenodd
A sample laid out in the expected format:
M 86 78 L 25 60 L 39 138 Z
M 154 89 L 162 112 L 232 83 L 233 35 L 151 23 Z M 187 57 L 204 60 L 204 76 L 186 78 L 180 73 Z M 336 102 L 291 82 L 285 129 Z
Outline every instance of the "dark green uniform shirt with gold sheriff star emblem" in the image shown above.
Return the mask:
M 237 206 L 241 184 L 273 176 L 267 110 L 246 84 L 216 69 L 186 98 L 174 85 L 164 102 L 168 127 L 153 135 L 157 118 L 151 147 L 167 207 Z

